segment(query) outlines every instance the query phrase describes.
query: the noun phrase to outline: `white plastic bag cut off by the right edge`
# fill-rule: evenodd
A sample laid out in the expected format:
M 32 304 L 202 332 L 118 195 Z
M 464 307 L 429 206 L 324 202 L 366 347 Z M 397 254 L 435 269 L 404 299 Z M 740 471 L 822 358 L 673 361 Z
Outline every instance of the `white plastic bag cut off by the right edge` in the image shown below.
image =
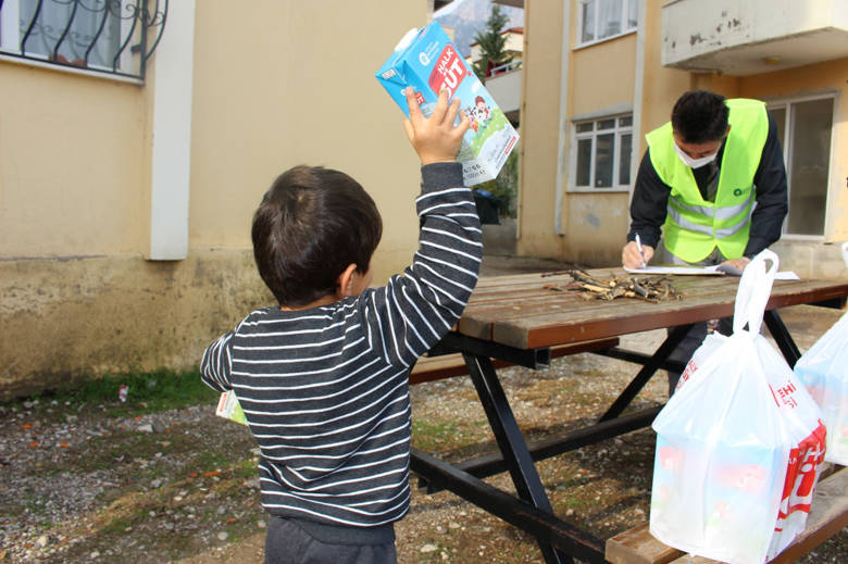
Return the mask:
M 848 242 L 843 245 L 843 258 L 848 267 Z M 848 313 L 803 353 L 795 374 L 822 410 L 827 426 L 825 460 L 848 465 Z

